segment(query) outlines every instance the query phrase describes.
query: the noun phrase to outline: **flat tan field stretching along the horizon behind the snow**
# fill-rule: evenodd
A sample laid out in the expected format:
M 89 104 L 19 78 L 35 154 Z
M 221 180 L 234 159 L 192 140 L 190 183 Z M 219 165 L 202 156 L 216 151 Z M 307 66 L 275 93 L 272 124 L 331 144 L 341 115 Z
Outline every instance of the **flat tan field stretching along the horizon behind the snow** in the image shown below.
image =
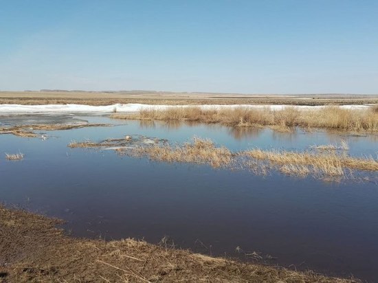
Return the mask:
M 0 104 L 378 104 L 378 95 L 350 94 L 238 94 L 238 93 L 173 93 L 166 91 L 0 91 Z

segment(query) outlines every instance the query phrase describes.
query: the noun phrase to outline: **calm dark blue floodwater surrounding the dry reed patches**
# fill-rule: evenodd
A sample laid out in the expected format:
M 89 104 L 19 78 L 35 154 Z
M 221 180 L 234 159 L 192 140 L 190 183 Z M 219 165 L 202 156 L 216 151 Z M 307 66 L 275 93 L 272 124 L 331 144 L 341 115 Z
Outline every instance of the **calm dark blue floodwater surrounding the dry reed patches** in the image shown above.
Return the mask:
M 377 136 L 203 124 L 110 120 L 104 116 L 0 117 L 1 124 L 115 124 L 37 131 L 46 138 L 0 135 L 0 201 L 67 220 L 74 236 L 135 237 L 216 256 L 256 260 L 329 275 L 378 278 L 378 185 L 324 182 L 271 172 L 158 163 L 113 150 L 67 148 L 71 141 L 143 135 L 182 143 L 194 135 L 233 151 L 253 147 L 307 150 L 347 141 L 349 154 L 377 157 Z M 0 124 L 0 125 L 1 125 Z M 22 152 L 6 161 L 5 152 Z M 256 253 L 254 253 L 256 251 Z M 273 258 L 273 259 L 271 259 Z

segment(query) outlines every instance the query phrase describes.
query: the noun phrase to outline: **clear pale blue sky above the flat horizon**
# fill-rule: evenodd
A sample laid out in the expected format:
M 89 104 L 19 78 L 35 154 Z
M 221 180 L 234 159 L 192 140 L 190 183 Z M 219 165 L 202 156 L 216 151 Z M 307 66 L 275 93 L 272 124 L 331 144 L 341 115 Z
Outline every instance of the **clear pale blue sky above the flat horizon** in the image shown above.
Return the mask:
M 376 0 L 0 0 L 0 90 L 378 93 Z

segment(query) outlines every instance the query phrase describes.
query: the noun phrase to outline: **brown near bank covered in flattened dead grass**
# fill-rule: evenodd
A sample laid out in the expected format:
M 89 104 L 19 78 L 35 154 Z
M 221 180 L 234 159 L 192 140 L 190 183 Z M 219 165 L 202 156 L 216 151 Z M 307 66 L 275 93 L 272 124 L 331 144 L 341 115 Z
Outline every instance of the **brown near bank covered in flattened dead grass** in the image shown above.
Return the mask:
M 359 282 L 132 239 L 71 238 L 60 223 L 0 206 L 0 282 Z

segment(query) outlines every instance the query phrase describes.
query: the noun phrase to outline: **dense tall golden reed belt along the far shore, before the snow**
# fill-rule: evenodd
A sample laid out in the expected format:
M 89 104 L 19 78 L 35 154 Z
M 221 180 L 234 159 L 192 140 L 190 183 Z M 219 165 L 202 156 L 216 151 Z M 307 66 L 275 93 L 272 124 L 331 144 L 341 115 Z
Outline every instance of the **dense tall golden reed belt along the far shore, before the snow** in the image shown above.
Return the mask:
M 329 106 L 323 109 L 298 110 L 288 107 L 274 111 L 266 109 L 208 109 L 198 106 L 174 107 L 166 110 L 141 109 L 140 113 L 111 115 L 117 119 L 130 120 L 183 120 L 203 123 L 220 123 L 227 126 L 270 126 L 275 130 L 291 131 L 300 128 L 327 128 L 343 131 L 377 132 L 378 112 L 367 110 L 341 109 Z

